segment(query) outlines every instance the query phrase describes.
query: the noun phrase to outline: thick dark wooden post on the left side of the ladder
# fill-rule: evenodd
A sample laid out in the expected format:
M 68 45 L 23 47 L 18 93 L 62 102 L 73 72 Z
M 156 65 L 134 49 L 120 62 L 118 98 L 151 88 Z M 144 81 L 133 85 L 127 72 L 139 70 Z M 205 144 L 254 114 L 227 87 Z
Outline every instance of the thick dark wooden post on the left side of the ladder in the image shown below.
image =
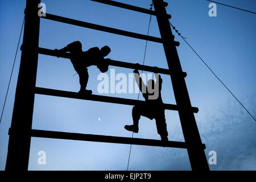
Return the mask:
M 22 55 L 13 118 L 9 130 L 6 171 L 26 171 L 28 169 L 31 142 L 28 133 L 32 127 L 34 88 L 38 67 L 39 3 L 40 0 L 27 0 L 26 2 Z

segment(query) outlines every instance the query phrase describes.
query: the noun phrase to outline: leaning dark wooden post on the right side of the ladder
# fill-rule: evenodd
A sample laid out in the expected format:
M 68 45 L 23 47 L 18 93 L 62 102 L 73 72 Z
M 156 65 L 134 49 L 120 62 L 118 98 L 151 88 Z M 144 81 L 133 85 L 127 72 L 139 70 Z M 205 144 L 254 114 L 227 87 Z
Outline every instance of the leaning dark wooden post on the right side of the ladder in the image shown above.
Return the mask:
M 188 145 L 187 150 L 191 168 L 193 171 L 208 171 L 209 166 L 204 153 L 199 130 L 197 129 L 196 119 L 192 112 L 185 79 L 180 76 L 182 69 L 177 49 L 174 45 L 174 37 L 167 18 L 166 8 L 164 7 L 163 0 L 153 0 L 153 3 L 168 67 L 170 71 L 174 73 L 171 75 L 172 87 L 174 89 L 176 104 L 179 108 L 179 117 L 184 139 Z

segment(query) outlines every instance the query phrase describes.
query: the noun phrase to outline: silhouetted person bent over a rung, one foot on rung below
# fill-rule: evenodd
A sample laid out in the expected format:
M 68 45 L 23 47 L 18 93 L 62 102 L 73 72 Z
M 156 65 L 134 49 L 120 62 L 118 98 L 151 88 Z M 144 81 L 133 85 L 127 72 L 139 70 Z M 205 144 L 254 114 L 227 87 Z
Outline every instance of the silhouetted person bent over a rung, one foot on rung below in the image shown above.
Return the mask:
M 60 52 L 70 52 L 70 60 L 79 75 L 79 82 L 81 85 L 79 93 L 92 94 L 92 90 L 86 90 L 88 83 L 88 69 L 91 65 L 97 65 L 101 72 L 108 71 L 109 65 L 104 61 L 104 57 L 110 53 L 110 48 L 104 46 L 101 49 L 98 47 L 90 48 L 88 51 L 82 51 L 82 44 L 79 41 L 68 44 L 62 49 L 55 49 L 57 54 Z

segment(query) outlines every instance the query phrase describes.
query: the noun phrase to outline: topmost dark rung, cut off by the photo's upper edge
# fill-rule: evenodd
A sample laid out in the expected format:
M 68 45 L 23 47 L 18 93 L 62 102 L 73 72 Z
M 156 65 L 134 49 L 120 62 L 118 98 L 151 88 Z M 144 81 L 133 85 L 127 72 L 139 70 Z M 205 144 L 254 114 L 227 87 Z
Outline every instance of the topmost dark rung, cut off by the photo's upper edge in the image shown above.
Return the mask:
M 142 7 L 137 7 L 137 6 L 132 6 L 132 5 L 127 5 L 125 3 L 121 3 L 121 2 L 117 2 L 117 1 L 110 1 L 110 0 L 90 0 L 90 1 L 95 1 L 95 2 L 100 2 L 100 3 L 104 3 L 106 5 L 112 5 L 112 6 L 117 6 L 117 7 L 121 7 L 123 9 L 127 9 L 127 10 L 133 10 L 133 11 L 137 11 L 140 13 L 146 13 L 146 14 L 150 14 L 150 15 L 156 15 L 156 12 L 153 10 L 148 10 L 148 9 L 144 9 Z M 164 6 L 168 6 L 167 2 L 164 2 Z M 171 19 L 171 15 L 166 14 L 168 19 Z

